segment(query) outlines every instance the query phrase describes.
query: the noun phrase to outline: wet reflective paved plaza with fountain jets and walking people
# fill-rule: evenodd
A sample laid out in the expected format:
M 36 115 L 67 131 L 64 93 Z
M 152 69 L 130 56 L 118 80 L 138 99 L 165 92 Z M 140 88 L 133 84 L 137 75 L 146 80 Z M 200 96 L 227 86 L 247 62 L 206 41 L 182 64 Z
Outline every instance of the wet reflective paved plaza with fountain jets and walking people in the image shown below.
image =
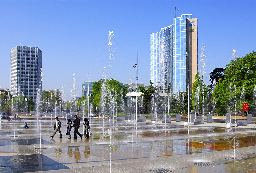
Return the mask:
M 0 122 L 0 172 L 256 172 L 254 125 L 90 119 L 93 137 L 73 140 L 40 120 Z

